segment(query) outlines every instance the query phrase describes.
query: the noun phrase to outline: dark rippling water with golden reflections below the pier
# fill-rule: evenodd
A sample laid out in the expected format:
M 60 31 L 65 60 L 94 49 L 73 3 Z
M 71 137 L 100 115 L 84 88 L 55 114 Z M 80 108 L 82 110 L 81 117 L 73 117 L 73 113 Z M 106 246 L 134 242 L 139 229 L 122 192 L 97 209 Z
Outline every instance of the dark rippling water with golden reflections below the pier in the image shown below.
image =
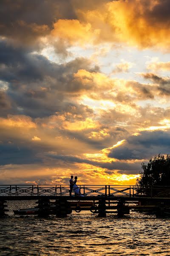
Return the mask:
M 131 212 L 129 217 L 73 212 L 66 218 L 13 215 L 35 201 L 7 202 L 0 219 L 0 256 L 170 256 L 170 219 Z

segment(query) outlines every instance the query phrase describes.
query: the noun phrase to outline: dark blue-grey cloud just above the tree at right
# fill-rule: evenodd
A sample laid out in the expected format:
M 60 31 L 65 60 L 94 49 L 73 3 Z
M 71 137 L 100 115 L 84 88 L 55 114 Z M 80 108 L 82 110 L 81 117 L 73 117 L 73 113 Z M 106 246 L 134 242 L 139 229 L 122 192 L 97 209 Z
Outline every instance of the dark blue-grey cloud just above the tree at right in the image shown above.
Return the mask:
M 156 154 L 169 154 L 170 133 L 168 131 L 143 131 L 130 136 L 125 143 L 113 148 L 108 157 L 119 160 L 149 159 Z

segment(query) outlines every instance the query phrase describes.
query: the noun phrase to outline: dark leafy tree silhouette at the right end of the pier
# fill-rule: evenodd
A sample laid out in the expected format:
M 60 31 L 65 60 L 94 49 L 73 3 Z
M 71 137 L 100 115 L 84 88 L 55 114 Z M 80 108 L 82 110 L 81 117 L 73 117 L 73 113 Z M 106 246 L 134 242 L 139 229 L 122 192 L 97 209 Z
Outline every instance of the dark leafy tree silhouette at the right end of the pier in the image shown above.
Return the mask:
M 142 171 L 136 185 L 143 192 L 147 186 L 170 186 L 170 155 L 159 154 L 150 158 L 147 165 L 142 163 Z

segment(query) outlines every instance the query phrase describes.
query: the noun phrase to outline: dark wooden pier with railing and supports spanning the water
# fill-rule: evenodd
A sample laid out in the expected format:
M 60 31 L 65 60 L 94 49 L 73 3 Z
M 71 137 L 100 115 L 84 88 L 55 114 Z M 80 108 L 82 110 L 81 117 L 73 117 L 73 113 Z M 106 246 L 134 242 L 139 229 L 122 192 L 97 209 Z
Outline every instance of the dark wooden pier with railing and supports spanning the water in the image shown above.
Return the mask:
M 170 186 L 80 185 L 79 195 L 69 196 L 69 185 L 0 185 L 0 216 L 5 216 L 7 201 L 37 200 L 34 209 L 16 214 L 58 217 L 73 210 L 91 211 L 105 217 L 107 213 L 122 217 L 130 210 L 147 211 L 157 216 L 170 215 Z M 17 202 L 16 202 L 17 203 Z

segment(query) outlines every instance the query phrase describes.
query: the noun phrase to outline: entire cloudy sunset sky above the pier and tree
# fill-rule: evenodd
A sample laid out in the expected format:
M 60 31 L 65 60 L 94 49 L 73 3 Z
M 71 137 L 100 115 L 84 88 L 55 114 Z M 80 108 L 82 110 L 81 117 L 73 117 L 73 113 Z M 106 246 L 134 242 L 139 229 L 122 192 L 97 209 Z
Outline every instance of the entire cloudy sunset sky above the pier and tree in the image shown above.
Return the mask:
M 0 184 L 134 185 L 170 153 L 169 0 L 0 1 Z

